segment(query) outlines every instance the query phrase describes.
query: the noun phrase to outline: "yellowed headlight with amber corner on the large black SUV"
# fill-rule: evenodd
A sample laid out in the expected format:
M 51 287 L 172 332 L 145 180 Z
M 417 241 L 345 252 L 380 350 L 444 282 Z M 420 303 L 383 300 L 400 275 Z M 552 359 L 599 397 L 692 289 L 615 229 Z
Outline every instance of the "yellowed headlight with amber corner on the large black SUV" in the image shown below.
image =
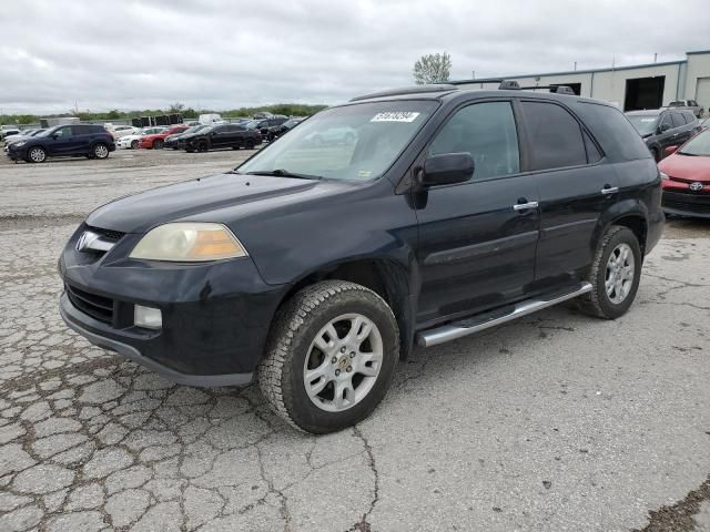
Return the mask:
M 151 229 L 130 257 L 192 263 L 246 255 L 240 241 L 222 224 L 179 222 Z

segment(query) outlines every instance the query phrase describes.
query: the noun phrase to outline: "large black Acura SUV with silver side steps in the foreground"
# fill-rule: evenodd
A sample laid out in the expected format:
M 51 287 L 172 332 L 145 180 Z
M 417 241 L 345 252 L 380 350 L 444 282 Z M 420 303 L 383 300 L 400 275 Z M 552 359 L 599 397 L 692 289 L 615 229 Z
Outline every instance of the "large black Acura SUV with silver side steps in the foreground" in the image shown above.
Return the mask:
M 308 137 L 355 130 L 353 144 Z M 419 86 L 325 110 L 235 171 L 92 212 L 60 260 L 67 324 L 176 382 L 255 378 L 294 427 L 368 416 L 413 345 L 571 298 L 628 310 L 661 177 L 616 108 Z

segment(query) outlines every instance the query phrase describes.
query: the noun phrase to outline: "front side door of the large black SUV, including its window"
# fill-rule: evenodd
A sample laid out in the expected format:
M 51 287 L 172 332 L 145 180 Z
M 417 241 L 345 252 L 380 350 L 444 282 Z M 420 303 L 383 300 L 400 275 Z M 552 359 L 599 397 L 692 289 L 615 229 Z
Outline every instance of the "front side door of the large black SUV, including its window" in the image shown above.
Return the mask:
M 460 152 L 474 157 L 469 182 L 414 193 L 419 326 L 520 299 L 534 280 L 538 192 L 520 175 L 510 101 L 457 110 L 426 154 Z

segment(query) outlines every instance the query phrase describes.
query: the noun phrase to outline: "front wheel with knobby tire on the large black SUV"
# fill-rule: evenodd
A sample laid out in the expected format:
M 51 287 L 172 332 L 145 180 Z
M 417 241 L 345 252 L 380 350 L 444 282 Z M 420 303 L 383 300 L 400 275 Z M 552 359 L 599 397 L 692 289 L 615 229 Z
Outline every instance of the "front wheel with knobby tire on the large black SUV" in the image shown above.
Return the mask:
M 258 383 L 293 427 L 334 432 L 379 405 L 398 358 L 397 321 L 385 300 L 364 286 L 326 280 L 278 309 Z

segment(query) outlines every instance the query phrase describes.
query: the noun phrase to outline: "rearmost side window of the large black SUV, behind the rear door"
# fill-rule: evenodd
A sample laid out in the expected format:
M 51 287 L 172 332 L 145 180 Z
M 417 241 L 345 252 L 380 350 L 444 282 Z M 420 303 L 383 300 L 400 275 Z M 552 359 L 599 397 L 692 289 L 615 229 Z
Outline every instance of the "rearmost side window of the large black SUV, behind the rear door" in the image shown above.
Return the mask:
M 611 162 L 651 157 L 641 136 L 617 108 L 576 102 L 574 109 Z

